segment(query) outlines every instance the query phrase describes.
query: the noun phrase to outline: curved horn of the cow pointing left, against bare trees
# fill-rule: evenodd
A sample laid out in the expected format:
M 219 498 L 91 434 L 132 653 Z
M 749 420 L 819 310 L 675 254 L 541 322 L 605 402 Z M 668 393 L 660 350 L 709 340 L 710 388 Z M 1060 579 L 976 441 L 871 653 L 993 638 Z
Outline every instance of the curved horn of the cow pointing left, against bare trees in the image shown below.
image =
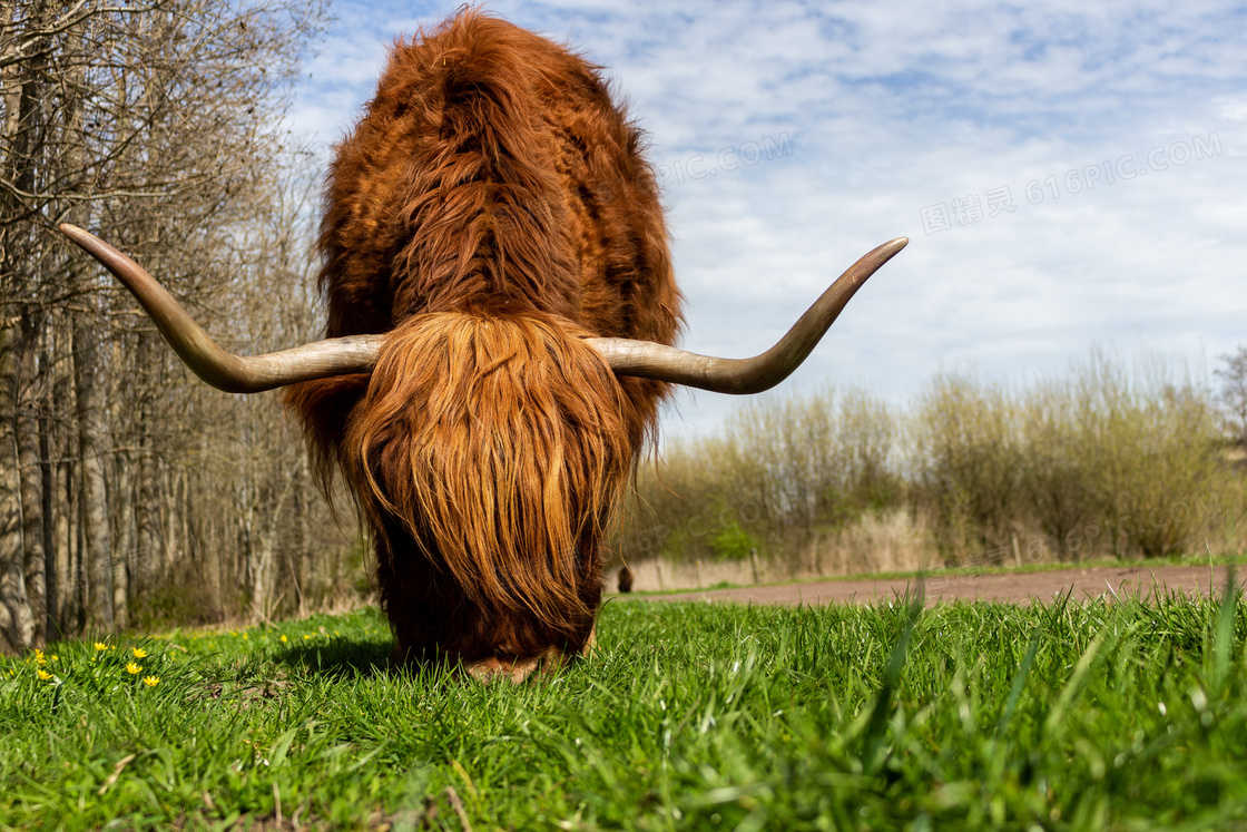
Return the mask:
M 138 263 L 77 226 L 65 223 L 60 228 L 116 274 L 156 322 L 173 352 L 212 387 L 227 393 L 259 393 L 296 382 L 365 373 L 377 362 L 383 336 L 328 338 L 266 356 L 227 353 Z

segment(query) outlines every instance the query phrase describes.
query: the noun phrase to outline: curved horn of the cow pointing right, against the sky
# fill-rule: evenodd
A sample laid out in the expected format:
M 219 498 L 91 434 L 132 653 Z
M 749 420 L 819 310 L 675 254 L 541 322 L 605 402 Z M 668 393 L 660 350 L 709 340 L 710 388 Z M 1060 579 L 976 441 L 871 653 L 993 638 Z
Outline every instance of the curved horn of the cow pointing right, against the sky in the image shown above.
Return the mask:
M 627 338 L 589 338 L 619 375 L 637 375 L 715 393 L 744 395 L 768 390 L 801 365 L 853 293 L 880 266 L 909 243 L 905 237 L 887 242 L 839 276 L 797 319 L 779 342 L 753 358 L 715 358 L 675 347 Z

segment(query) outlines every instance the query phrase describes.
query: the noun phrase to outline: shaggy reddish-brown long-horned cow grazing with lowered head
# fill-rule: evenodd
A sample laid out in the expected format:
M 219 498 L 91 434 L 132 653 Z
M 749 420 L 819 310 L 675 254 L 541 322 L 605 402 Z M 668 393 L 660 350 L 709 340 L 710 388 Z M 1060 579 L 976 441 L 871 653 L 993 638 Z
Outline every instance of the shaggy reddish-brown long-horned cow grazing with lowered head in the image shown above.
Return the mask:
M 395 45 L 325 210 L 328 339 L 251 358 L 123 254 L 62 230 L 205 380 L 289 385 L 317 469 L 358 498 L 400 657 L 514 680 L 592 644 L 604 531 L 671 384 L 772 387 L 905 244 L 858 261 L 753 359 L 675 349 L 680 293 L 640 131 L 596 67 L 474 10 Z

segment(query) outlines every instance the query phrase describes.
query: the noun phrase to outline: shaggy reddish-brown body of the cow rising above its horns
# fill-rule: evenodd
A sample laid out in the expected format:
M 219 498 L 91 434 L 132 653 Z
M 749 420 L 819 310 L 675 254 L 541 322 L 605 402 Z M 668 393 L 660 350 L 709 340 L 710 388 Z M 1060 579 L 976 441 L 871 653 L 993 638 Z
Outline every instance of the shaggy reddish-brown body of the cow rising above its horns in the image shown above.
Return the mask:
M 596 67 L 506 21 L 465 11 L 397 44 L 329 176 L 329 334 L 535 309 L 671 343 L 680 301 L 641 142 Z

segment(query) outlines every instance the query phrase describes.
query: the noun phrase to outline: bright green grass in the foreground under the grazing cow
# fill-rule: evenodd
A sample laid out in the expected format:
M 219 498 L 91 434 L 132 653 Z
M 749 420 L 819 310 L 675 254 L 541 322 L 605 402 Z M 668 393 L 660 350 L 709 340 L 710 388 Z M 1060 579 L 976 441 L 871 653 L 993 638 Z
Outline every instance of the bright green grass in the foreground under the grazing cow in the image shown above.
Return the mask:
M 607 604 L 599 635 L 519 687 L 389 670 L 374 611 L 0 660 L 0 828 L 276 828 L 278 796 L 283 828 L 1247 828 L 1232 596 Z

